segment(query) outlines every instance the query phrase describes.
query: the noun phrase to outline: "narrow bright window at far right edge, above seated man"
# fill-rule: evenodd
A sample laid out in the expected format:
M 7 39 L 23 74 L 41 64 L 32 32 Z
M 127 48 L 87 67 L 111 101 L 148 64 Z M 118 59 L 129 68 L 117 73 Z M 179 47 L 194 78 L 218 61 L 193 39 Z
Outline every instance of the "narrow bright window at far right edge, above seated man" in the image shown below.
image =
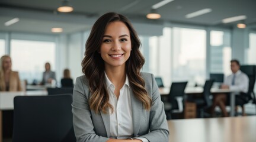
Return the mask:
M 248 64 L 256 64 L 256 33 L 249 34 Z

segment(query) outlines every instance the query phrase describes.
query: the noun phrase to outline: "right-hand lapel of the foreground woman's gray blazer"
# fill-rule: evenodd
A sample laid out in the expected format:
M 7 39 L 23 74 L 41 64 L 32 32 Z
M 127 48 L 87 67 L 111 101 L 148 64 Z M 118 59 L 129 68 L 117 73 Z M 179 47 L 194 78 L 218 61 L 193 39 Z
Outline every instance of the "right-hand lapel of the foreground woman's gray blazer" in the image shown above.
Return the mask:
M 140 129 L 140 117 L 142 114 L 142 102 L 140 102 L 133 94 L 132 89 L 130 89 L 131 94 L 131 104 L 132 104 L 132 117 L 133 117 L 133 133 L 137 137 Z

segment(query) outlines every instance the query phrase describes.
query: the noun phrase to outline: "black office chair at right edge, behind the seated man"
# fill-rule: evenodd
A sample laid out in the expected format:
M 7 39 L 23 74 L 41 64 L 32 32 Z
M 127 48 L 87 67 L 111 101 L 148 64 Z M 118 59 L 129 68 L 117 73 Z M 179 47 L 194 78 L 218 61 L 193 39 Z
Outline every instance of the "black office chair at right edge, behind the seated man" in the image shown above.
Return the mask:
M 242 114 L 245 114 L 244 105 L 248 102 L 256 104 L 254 85 L 255 85 L 255 76 L 256 76 L 256 66 L 255 65 L 244 65 L 240 67 L 240 70 L 244 72 L 249 78 L 249 88 L 248 92 L 244 94 L 244 97 L 236 96 L 235 105 L 242 107 Z

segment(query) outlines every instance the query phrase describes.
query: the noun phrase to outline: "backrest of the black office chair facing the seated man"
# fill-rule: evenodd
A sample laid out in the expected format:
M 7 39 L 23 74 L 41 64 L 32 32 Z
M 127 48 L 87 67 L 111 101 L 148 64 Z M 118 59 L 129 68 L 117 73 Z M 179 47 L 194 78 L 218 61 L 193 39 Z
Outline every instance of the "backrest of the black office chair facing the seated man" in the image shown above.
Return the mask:
M 204 83 L 203 98 L 207 106 L 212 105 L 212 101 L 210 101 L 210 89 L 212 88 L 213 82 L 213 80 L 206 80 Z

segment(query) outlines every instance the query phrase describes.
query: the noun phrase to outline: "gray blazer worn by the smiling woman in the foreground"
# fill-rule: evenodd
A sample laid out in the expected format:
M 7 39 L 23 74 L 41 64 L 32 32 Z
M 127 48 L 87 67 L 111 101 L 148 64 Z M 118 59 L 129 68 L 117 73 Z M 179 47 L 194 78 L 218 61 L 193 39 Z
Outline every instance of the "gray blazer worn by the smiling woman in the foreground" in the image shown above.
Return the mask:
M 150 73 L 141 75 L 153 103 L 150 111 L 143 109 L 142 102 L 136 99 L 133 92 L 130 91 L 134 137 L 144 137 L 151 142 L 168 142 L 167 118 L 155 78 Z M 107 141 L 110 137 L 110 115 L 103 112 L 96 114 L 91 110 L 89 108 L 90 96 L 88 80 L 85 76 L 76 78 L 72 103 L 76 141 Z

